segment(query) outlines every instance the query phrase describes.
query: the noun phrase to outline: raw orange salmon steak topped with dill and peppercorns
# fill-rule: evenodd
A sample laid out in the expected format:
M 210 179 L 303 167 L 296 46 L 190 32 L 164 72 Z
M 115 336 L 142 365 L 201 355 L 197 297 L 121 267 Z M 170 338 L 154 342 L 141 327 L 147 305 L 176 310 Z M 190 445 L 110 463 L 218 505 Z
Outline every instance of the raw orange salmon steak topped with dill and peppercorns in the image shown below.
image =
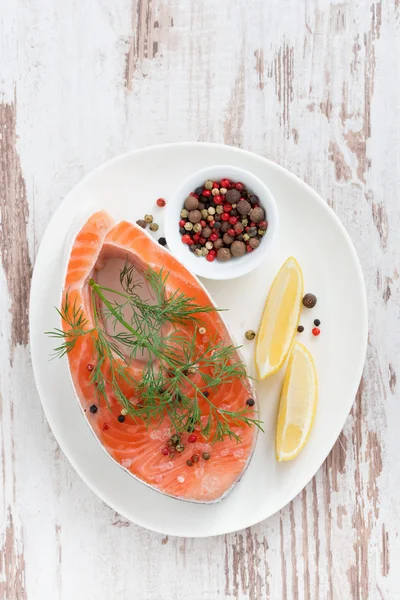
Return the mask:
M 260 422 L 238 350 L 199 280 L 141 227 L 100 211 L 73 241 L 58 312 L 56 352 L 108 455 L 165 495 L 224 498 Z

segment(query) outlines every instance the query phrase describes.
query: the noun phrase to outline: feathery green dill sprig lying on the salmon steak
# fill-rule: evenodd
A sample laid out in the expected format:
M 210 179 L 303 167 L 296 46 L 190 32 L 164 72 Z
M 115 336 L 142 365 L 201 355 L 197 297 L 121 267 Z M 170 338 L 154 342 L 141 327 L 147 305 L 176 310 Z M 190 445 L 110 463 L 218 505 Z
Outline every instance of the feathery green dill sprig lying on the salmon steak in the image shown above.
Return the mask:
M 216 340 L 211 340 L 204 350 L 197 346 L 201 316 L 217 309 L 200 306 L 179 290 L 168 294 L 169 274 L 162 269 L 146 270 L 144 275 L 153 298 L 143 300 L 137 293 L 140 283 L 134 274 L 134 266 L 127 263 L 120 273 L 122 291 L 89 280 L 92 327 L 88 327 L 82 307 L 76 301 L 71 305 L 69 294 L 65 295 L 57 312 L 67 323 L 67 331 L 56 328 L 46 332 L 62 341 L 54 356 L 64 356 L 79 338 L 90 336 L 96 353 L 91 383 L 98 395 L 109 406 L 106 389 L 110 385 L 121 408 L 147 427 L 156 428 L 167 415 L 177 433 L 198 427 L 212 442 L 226 436 L 240 441 L 234 429 L 243 425 L 262 429 L 261 421 L 249 417 L 246 408 L 224 410 L 209 398 L 209 392 L 247 377 L 238 348 Z M 116 294 L 118 301 L 108 299 L 107 292 Z M 129 319 L 125 316 L 127 308 Z M 107 321 L 112 327 L 105 326 Z M 147 360 L 143 360 L 145 353 Z M 135 359 L 143 360 L 139 379 L 132 375 Z M 198 384 L 191 377 L 194 372 L 200 376 Z M 200 403 L 208 407 L 205 414 Z

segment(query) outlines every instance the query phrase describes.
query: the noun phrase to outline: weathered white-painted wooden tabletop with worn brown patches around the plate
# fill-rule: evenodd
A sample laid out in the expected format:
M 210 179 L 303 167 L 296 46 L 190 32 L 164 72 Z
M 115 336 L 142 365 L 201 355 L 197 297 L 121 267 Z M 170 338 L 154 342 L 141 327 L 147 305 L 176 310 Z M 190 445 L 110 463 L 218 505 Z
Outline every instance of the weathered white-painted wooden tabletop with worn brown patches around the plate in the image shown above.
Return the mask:
M 1 600 L 400 598 L 399 56 L 400 0 L 0 0 Z M 370 316 L 316 477 L 268 521 L 203 540 L 145 531 L 86 487 L 28 345 L 35 255 L 66 193 L 120 152 L 183 140 L 253 150 L 326 198 Z

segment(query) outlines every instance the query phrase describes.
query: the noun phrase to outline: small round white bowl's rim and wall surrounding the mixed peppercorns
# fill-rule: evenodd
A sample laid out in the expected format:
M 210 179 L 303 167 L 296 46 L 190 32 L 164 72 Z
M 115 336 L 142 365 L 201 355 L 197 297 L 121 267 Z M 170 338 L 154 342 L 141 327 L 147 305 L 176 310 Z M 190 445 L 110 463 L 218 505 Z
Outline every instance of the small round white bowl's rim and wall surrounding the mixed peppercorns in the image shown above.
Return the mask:
M 190 192 L 204 184 L 207 179 L 220 181 L 223 178 L 241 181 L 260 199 L 260 206 L 266 212 L 268 229 L 259 247 L 244 256 L 232 258 L 227 262 L 214 260 L 208 262 L 205 257 L 195 256 L 189 246 L 182 242 L 178 222 L 184 202 Z M 165 236 L 172 254 L 185 265 L 189 271 L 207 279 L 235 279 L 253 271 L 264 260 L 273 244 L 279 226 L 278 209 L 275 199 L 265 183 L 250 171 L 233 166 L 216 165 L 196 171 L 185 179 L 173 196 L 168 200 L 165 212 Z

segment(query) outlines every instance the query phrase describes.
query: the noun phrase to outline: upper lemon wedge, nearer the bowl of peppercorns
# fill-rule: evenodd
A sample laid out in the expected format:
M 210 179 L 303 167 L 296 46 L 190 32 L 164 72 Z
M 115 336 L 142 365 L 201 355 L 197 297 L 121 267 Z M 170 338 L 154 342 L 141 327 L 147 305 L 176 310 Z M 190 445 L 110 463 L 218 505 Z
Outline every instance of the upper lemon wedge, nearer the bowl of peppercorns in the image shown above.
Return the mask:
M 268 294 L 257 336 L 255 363 L 260 379 L 283 365 L 299 324 L 303 273 L 293 257 L 282 265 Z

